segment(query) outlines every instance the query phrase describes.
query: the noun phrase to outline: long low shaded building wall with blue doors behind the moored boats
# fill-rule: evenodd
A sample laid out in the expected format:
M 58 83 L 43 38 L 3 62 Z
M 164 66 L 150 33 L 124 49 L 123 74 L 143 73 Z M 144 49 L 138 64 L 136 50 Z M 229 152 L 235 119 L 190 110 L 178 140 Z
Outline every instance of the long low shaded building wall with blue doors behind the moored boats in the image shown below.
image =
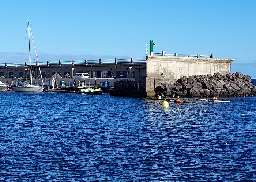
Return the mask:
M 135 78 L 136 75 L 136 68 L 145 65 L 145 62 L 136 62 L 136 63 L 119 63 L 119 64 L 62 64 L 62 65 L 40 65 L 42 76 L 45 78 L 51 78 L 55 73 L 60 74 L 63 78 L 65 78 L 65 74 L 69 73 L 70 77 L 77 72 L 86 72 L 90 75 L 90 78 L 101 78 L 102 72 L 107 72 L 108 76 L 113 78 Z M 132 67 L 130 70 L 129 67 Z M 144 66 L 145 67 L 145 66 Z M 25 68 L 28 70 L 25 71 Z M 72 68 L 74 70 L 72 71 Z M 32 68 L 35 77 L 40 76 L 38 66 L 33 66 Z M 7 67 L 0 67 L 0 76 L 5 76 L 6 78 L 25 78 L 26 76 L 29 77 L 30 70 L 29 66 L 7 66 Z

